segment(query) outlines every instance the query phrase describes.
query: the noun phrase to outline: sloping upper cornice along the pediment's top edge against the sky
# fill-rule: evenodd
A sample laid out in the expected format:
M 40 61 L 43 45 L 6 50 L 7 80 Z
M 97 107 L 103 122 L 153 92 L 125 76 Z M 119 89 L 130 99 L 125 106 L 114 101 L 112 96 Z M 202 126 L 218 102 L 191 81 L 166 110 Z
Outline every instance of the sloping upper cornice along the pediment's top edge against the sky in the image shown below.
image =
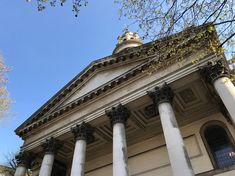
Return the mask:
M 208 26 L 210 26 L 211 23 L 206 24 L 206 25 L 202 25 L 202 26 L 192 26 L 190 28 L 187 28 L 186 31 L 191 30 L 192 28 L 195 28 L 197 31 L 203 31 L 203 28 L 206 28 Z M 79 74 L 77 74 L 71 81 L 69 81 L 64 87 L 62 87 L 62 89 L 60 89 L 54 96 L 52 96 L 46 103 L 44 103 L 36 112 L 34 112 L 27 120 L 25 120 L 16 130 L 15 133 L 19 136 L 21 136 L 19 134 L 19 131 L 25 127 L 25 125 L 30 122 L 30 120 L 32 120 L 33 118 L 35 118 L 36 116 L 40 115 L 41 112 L 43 112 L 45 110 L 45 108 L 47 108 L 50 104 L 53 104 L 54 101 L 60 101 L 61 99 L 63 99 L 64 96 L 66 96 L 69 92 L 71 92 L 73 90 L 74 87 L 76 87 L 77 85 L 79 85 L 79 83 L 83 82 L 83 77 L 87 77 L 89 76 L 89 74 L 86 74 L 87 72 L 91 71 L 94 72 L 97 68 L 101 68 L 102 66 L 106 66 L 108 63 L 109 64 L 113 64 L 113 60 L 116 59 L 116 61 L 125 61 L 128 57 L 134 57 L 134 55 L 136 53 L 140 54 L 139 49 L 141 48 L 141 51 L 148 49 L 149 46 L 152 46 L 152 43 L 158 43 L 158 42 L 162 42 L 162 41 L 168 41 L 169 38 L 174 38 L 176 35 L 179 35 L 180 33 L 185 32 L 179 32 L 176 33 L 174 35 L 171 36 L 167 36 L 164 37 L 162 39 L 156 40 L 156 41 L 152 41 L 152 42 L 148 42 L 146 44 L 143 44 L 141 46 L 138 47 L 134 47 L 134 48 L 126 48 L 125 50 L 121 51 L 120 53 L 117 54 L 113 54 L 101 59 L 97 59 L 93 62 L 91 62 L 85 69 L 83 69 Z M 138 51 L 138 52 L 136 52 Z M 106 63 L 108 62 L 108 63 Z M 104 64 L 106 63 L 106 64 Z M 114 62 L 114 63 L 118 63 L 118 62 Z M 102 65 L 103 64 L 103 65 Z M 98 66 L 99 65 L 99 66 Z M 96 66 L 96 67 L 95 67 Z M 94 68 L 95 67 L 95 68 Z M 81 80 L 80 80 L 81 79 Z M 75 85 L 74 85 L 75 84 Z M 67 90 L 67 91 L 66 91 Z M 92 91 L 91 91 L 92 92 Z M 63 95 L 66 94 L 66 95 Z M 62 98 L 59 98 L 62 95 Z M 59 99 L 58 99 L 59 98 Z M 80 97 L 81 98 L 81 97 Z M 49 110 L 54 107 L 58 102 L 54 102 L 54 105 L 52 105 L 51 107 L 49 107 Z M 47 111 L 48 112 L 48 111 Z M 40 115 L 40 117 L 43 116 Z

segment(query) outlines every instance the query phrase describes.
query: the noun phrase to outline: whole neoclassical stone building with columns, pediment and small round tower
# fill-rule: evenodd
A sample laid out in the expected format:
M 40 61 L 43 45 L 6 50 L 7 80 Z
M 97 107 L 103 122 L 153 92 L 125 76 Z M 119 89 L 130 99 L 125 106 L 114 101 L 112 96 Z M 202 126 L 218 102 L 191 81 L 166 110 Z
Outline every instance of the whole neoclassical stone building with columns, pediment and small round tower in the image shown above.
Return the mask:
M 235 175 L 235 87 L 214 27 L 126 31 L 15 131 L 15 176 Z

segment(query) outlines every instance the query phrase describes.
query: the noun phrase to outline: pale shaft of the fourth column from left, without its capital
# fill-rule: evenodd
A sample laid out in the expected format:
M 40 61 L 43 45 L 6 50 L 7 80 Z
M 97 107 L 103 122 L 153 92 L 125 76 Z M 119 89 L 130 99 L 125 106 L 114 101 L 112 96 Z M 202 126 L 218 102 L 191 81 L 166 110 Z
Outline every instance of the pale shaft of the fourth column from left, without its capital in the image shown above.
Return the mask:
M 123 123 L 113 126 L 113 176 L 129 176 L 126 134 Z

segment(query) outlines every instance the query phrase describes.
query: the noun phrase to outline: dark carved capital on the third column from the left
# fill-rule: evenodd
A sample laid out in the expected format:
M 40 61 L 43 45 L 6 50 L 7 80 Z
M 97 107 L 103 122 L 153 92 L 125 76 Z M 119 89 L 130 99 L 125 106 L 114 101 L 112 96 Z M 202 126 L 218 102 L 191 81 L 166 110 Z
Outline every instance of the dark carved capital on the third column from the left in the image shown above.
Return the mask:
M 94 141 L 94 129 L 91 125 L 85 122 L 72 127 L 71 132 L 74 134 L 75 140 L 86 140 L 87 143 Z

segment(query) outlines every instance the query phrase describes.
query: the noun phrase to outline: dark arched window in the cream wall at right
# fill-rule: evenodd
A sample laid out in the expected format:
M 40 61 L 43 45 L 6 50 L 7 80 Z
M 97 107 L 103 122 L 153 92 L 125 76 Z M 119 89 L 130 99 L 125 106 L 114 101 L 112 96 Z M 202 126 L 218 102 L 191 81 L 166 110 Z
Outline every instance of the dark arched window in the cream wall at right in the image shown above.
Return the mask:
M 226 126 L 218 121 L 203 129 L 204 143 L 216 168 L 235 165 L 235 147 Z

